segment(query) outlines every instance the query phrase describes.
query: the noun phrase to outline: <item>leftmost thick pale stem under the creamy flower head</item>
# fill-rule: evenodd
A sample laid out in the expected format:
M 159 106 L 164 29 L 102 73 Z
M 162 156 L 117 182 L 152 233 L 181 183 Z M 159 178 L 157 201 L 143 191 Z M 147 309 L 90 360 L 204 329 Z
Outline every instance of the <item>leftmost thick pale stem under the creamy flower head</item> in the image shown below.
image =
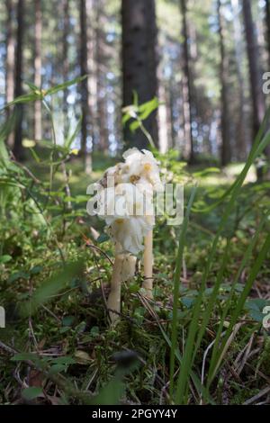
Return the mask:
M 112 324 L 119 319 L 119 313 L 121 311 L 121 269 L 123 259 L 123 255 L 117 255 L 112 270 L 111 293 L 107 301 L 107 308 L 109 309 L 109 317 Z

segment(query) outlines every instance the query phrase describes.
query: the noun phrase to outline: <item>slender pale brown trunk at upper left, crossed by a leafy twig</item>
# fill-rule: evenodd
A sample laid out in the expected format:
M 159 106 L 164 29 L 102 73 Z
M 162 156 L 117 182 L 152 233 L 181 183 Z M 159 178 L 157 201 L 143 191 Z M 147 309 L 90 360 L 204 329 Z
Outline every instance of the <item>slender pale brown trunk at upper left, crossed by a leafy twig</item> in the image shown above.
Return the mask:
M 41 88 L 41 1 L 35 0 L 35 46 L 34 46 L 34 85 Z M 41 102 L 34 103 L 34 139 L 42 139 Z

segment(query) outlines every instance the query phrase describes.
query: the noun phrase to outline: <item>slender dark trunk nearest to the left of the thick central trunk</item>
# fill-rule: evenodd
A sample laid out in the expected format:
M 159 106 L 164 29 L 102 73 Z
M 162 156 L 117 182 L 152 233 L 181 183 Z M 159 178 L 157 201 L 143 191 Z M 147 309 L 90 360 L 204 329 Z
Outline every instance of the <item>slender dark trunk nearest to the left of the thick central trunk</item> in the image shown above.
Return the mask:
M 87 52 L 87 14 L 85 0 L 80 0 L 80 68 L 81 76 L 88 75 L 88 52 Z M 88 76 L 81 83 L 81 109 L 82 109 L 82 138 L 81 138 L 81 152 L 85 158 L 85 170 L 87 173 L 91 172 L 91 156 L 88 154 L 87 138 L 89 135 L 89 91 L 88 91 Z

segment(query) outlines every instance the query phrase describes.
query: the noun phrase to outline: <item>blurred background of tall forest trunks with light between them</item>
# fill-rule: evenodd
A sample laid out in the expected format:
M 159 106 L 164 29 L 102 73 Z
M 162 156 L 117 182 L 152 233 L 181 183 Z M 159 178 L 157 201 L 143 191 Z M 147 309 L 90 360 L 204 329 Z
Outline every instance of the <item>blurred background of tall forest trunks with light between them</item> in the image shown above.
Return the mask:
M 82 116 L 82 155 L 148 147 L 143 133 L 122 133 L 136 92 L 151 101 L 145 126 L 160 152 L 243 161 L 269 103 L 269 14 L 269 0 L 2 0 L 0 107 L 27 82 L 46 90 L 87 74 L 52 100 L 59 144 Z M 9 144 L 23 158 L 23 139 L 50 139 L 51 125 L 40 101 L 16 108 Z

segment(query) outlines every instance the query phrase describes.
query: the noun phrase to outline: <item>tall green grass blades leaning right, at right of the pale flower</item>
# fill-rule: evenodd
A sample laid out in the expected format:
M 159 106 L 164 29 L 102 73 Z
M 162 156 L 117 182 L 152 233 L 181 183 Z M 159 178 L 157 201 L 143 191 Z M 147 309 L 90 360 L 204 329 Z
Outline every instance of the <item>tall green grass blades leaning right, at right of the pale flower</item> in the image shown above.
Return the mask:
M 220 198 L 218 202 L 202 210 L 202 212 L 210 211 L 213 207 L 215 207 L 216 205 L 220 203 L 224 203 L 225 205 L 225 210 L 221 216 L 217 233 L 215 237 L 213 238 L 213 241 L 211 244 L 211 251 L 210 251 L 209 257 L 207 259 L 205 268 L 203 269 L 202 283 L 201 283 L 199 293 L 193 305 L 192 320 L 188 326 L 187 338 L 185 339 L 185 343 L 184 343 L 184 353 L 183 353 L 183 356 L 181 357 L 180 368 L 179 368 L 177 380 L 175 381 L 175 376 L 174 376 L 175 349 L 177 349 L 177 346 L 176 346 L 177 328 L 179 327 L 179 324 L 180 324 L 178 320 L 178 315 L 177 315 L 177 305 L 179 302 L 179 280 L 180 280 L 181 263 L 182 263 L 183 251 L 184 251 L 184 237 L 185 237 L 185 233 L 187 229 L 189 214 L 191 211 L 191 202 L 189 202 L 189 205 L 187 208 L 186 218 L 184 220 L 182 230 L 180 232 L 178 253 L 177 253 L 177 260 L 176 260 L 175 281 L 174 281 L 174 284 L 175 284 L 174 312 L 173 312 L 173 319 L 172 319 L 172 331 L 171 331 L 171 342 L 170 342 L 171 344 L 170 396 L 171 396 L 171 400 L 174 401 L 175 404 L 186 404 L 188 402 L 189 382 L 191 378 L 194 379 L 194 373 L 195 373 L 193 369 L 193 364 L 196 359 L 198 350 L 201 347 L 202 338 L 204 338 L 206 334 L 207 325 L 211 318 L 211 313 L 214 310 L 214 306 L 216 302 L 218 301 L 218 295 L 220 293 L 220 284 L 223 280 L 224 271 L 226 270 L 227 264 L 228 264 L 229 242 L 230 242 L 229 238 L 232 236 L 232 234 L 227 239 L 227 247 L 225 248 L 225 251 L 223 253 L 220 271 L 218 272 L 218 275 L 216 276 L 216 281 L 213 286 L 209 301 L 206 305 L 203 304 L 204 306 L 204 309 L 203 309 L 202 303 L 203 303 L 203 297 L 204 297 L 206 284 L 211 272 L 211 268 L 217 260 L 217 249 L 218 249 L 220 237 L 222 235 L 222 232 L 224 231 L 224 229 L 226 229 L 226 226 L 229 223 L 229 217 L 232 211 L 234 211 L 235 204 L 238 200 L 238 194 L 240 193 L 242 184 L 245 181 L 247 172 L 250 166 L 252 166 L 255 163 L 257 157 L 259 157 L 262 154 L 266 146 L 270 143 L 270 132 L 268 131 L 266 132 L 266 135 L 264 135 L 268 117 L 269 117 L 269 110 L 266 113 L 266 118 L 263 124 L 261 125 L 261 128 L 257 134 L 257 138 L 254 142 L 253 148 L 251 149 L 250 154 L 247 158 L 247 163 L 244 166 L 240 175 L 238 175 L 238 178 L 236 179 L 236 181 L 229 187 L 228 191 L 222 195 L 222 197 Z M 198 209 L 195 209 L 195 208 L 193 208 L 192 210 L 197 212 L 199 211 Z M 255 263 L 250 270 L 244 290 L 238 297 L 236 307 L 232 313 L 232 316 L 229 322 L 229 327 L 226 329 L 225 334 L 223 334 L 222 341 L 220 341 L 222 329 L 224 329 L 224 321 L 228 315 L 229 307 L 232 302 L 233 293 L 235 293 L 235 286 L 238 281 L 238 275 L 240 275 L 240 271 L 247 265 L 247 262 L 249 258 L 251 257 L 253 248 L 256 245 L 257 238 L 262 233 L 268 216 L 269 216 L 269 211 L 266 211 L 266 217 L 259 224 L 256 234 L 251 240 L 250 245 L 247 247 L 247 251 L 242 259 L 238 273 L 233 279 L 233 283 L 231 284 L 229 299 L 228 299 L 228 302 L 226 303 L 226 306 L 220 318 L 219 328 L 217 330 L 217 335 L 216 335 L 213 349 L 212 349 L 211 361 L 210 361 L 210 365 L 209 365 L 209 369 L 207 373 L 207 382 L 205 386 L 203 385 L 201 386 L 201 392 L 200 392 L 201 398 L 205 402 L 208 402 L 209 389 L 211 387 L 211 383 L 213 382 L 214 377 L 220 368 L 220 365 L 222 365 L 222 360 L 226 353 L 229 337 L 231 336 L 235 328 L 235 325 L 238 319 L 240 318 L 241 312 L 243 310 L 243 307 L 247 299 L 247 295 L 250 292 L 252 285 L 257 277 L 257 274 L 260 270 L 260 267 L 262 266 L 266 258 L 266 255 L 270 249 L 270 234 L 268 234 L 266 236 L 264 246 L 262 247 L 261 251 L 256 257 Z

